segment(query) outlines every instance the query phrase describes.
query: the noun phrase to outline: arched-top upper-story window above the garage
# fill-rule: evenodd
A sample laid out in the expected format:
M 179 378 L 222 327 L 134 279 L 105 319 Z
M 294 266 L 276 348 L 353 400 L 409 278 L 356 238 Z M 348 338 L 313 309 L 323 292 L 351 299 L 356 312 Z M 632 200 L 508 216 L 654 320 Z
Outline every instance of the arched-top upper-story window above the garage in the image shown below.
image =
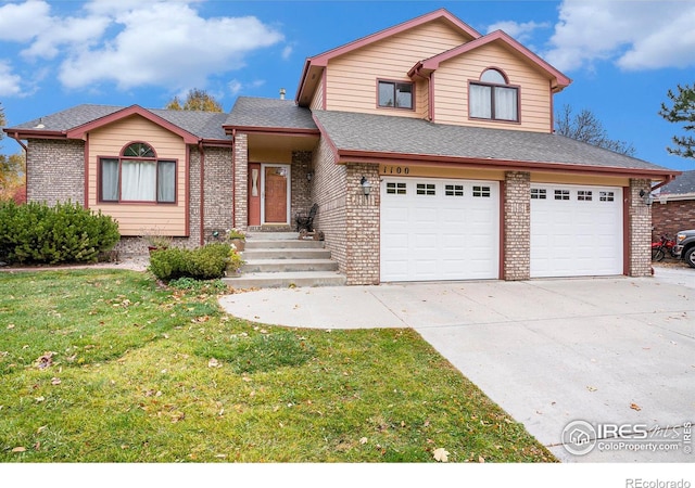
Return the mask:
M 498 69 L 485 69 L 479 81 L 471 81 L 468 95 L 471 117 L 519 121 L 519 89 Z

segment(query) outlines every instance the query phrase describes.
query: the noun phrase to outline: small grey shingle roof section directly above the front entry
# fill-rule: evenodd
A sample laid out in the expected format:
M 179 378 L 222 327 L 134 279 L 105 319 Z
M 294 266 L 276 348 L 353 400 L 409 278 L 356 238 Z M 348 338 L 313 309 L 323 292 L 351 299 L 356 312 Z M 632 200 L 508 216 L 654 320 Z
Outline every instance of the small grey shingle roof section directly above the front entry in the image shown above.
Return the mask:
M 226 121 L 232 127 L 265 127 L 316 130 L 308 108 L 293 100 L 239 97 Z

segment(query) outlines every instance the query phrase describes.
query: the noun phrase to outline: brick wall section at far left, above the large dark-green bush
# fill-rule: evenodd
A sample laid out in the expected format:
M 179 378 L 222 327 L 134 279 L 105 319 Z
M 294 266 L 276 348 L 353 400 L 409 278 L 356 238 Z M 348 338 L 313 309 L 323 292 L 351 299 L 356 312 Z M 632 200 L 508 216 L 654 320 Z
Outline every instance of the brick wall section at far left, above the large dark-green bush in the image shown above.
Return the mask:
M 27 147 L 27 202 L 86 204 L 84 141 L 31 139 Z

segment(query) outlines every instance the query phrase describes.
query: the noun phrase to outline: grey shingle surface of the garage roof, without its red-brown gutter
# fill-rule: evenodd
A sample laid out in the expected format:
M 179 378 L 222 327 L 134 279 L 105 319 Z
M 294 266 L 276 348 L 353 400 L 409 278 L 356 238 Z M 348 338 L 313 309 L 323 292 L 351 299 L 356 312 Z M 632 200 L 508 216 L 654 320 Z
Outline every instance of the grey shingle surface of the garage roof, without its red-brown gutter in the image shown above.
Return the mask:
M 664 169 L 554 133 L 452 126 L 351 112 L 314 111 L 314 116 L 339 151 Z

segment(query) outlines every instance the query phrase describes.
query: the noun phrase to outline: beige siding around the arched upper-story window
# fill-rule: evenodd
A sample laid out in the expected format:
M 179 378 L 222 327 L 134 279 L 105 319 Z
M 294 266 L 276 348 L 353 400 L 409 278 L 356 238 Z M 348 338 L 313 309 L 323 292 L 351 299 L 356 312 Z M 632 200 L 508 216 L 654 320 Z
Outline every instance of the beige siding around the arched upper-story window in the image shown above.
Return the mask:
M 520 124 L 469 119 L 468 82 L 495 67 L 504 72 L 509 85 L 519 87 Z M 434 121 L 497 129 L 551 131 L 549 79 L 498 44 L 482 46 L 440 65 L 434 72 Z

